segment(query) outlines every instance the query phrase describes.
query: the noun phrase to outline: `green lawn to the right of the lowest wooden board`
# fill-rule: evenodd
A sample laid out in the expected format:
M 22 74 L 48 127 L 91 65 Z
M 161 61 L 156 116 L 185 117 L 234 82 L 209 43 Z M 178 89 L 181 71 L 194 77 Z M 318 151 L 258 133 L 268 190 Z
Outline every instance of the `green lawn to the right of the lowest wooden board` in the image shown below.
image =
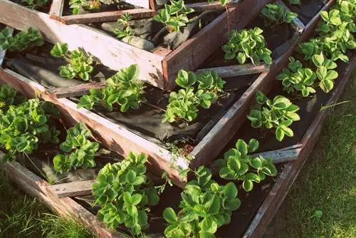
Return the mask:
M 347 100 L 333 108 L 266 237 L 356 237 L 355 72 Z

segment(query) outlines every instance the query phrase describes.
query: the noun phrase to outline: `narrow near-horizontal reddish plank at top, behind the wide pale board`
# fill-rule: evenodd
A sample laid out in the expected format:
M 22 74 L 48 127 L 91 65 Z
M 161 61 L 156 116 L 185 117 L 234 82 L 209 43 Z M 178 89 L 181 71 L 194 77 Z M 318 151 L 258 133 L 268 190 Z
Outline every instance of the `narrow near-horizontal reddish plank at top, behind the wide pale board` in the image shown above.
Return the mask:
M 70 16 L 62 16 L 58 21 L 61 21 L 63 24 L 89 24 L 94 22 L 105 22 L 105 21 L 117 21 L 120 16 L 124 14 L 130 14 L 132 19 L 147 19 L 157 14 L 156 11 L 150 9 L 129 9 L 129 10 L 120 10 L 120 11 L 103 11 L 95 12 L 91 14 L 78 14 Z

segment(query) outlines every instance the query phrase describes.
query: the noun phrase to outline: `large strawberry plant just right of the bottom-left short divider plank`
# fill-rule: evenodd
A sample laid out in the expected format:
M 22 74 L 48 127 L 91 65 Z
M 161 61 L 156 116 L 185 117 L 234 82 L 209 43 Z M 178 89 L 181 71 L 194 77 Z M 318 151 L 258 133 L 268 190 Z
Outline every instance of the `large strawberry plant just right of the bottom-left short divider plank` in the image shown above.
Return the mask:
M 130 152 L 126 160 L 107 164 L 93 184 L 95 205 L 100 205 L 98 218 L 116 229 L 120 224 L 133 234 L 147 226 L 150 207 L 157 205 L 157 190 L 146 175 L 147 155 Z

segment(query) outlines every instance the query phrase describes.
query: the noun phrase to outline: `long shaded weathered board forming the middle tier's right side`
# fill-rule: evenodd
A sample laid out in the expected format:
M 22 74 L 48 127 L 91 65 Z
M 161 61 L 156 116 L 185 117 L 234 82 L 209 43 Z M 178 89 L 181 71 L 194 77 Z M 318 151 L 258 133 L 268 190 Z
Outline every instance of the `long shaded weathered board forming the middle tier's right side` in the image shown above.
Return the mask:
M 330 6 L 330 4 L 328 6 Z M 310 34 L 313 33 L 310 29 L 315 28 L 316 24 L 318 24 L 318 19 L 319 18 L 313 18 L 313 22 L 311 22 L 305 31 L 298 36 L 298 41 L 293 41 L 293 45 L 288 48 L 288 51 L 279 57 L 271 66 L 268 75 L 259 78 L 259 80 L 257 79 L 250 88 L 246 90 L 240 100 L 238 100 L 223 118 L 211 128 L 203 140 L 201 140 L 194 150 L 192 150 L 191 154 L 195 157 L 195 160 L 191 162 L 189 167 L 194 168 L 199 167 L 200 165 L 206 165 L 219 155 L 220 150 L 217 148 L 224 148 L 226 143 L 231 140 L 234 132 L 238 131 L 241 125 L 247 120 L 246 114 L 248 113 L 248 107 L 256 100 L 254 93 L 257 90 L 261 90 L 263 93 L 268 93 L 272 89 L 273 79 L 287 65 L 288 57 L 293 53 L 293 50 L 298 46 L 298 43 L 302 41 L 303 38 L 308 38 Z

